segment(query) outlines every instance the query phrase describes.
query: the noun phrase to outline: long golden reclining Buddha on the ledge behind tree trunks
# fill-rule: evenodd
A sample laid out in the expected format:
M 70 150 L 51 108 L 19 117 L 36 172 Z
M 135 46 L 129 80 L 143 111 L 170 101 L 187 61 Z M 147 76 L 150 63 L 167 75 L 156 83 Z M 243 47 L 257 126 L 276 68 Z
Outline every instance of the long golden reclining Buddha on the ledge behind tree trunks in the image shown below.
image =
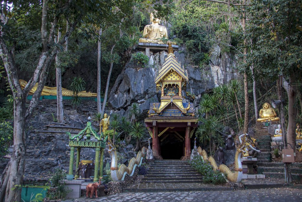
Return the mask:
M 22 89 L 25 88 L 27 82 L 19 79 L 19 83 Z M 34 87 L 29 91 L 29 95 L 34 94 L 34 92 L 38 88 L 38 83 L 34 85 Z M 44 86 L 41 92 L 41 95 L 57 95 L 56 87 L 48 87 Z M 62 88 L 62 95 L 63 96 L 74 96 L 73 92 L 70 90 L 67 90 L 66 88 Z M 96 93 L 91 93 L 91 92 L 86 92 L 86 91 L 81 91 L 79 92 L 79 97 L 96 97 Z

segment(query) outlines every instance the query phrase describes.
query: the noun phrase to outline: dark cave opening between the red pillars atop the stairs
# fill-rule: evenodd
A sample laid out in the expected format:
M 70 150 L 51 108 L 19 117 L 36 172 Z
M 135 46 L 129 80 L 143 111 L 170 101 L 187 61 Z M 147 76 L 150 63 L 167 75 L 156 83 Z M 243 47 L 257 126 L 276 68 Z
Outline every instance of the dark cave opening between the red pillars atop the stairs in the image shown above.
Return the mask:
M 184 140 L 173 132 L 162 135 L 160 153 L 163 159 L 180 159 L 184 153 Z

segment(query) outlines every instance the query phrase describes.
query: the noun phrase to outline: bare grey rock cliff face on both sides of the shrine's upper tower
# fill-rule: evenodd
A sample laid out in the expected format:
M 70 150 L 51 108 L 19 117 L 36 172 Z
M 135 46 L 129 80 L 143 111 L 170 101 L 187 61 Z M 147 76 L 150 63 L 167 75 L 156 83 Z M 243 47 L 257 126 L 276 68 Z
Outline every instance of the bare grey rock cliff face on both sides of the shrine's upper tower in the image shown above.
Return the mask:
M 213 48 L 210 65 L 202 69 L 188 65 L 184 51 L 184 48 L 180 47 L 178 51 L 175 51 L 175 57 L 178 58 L 181 65 L 185 65 L 188 71 L 189 82 L 186 91 L 196 95 L 195 100 L 191 99 L 195 107 L 200 101 L 201 94 L 239 76 L 234 70 L 236 67 L 235 56 L 230 53 L 221 53 L 218 45 Z M 164 63 L 166 55 L 166 51 L 157 53 L 150 51 L 148 68 L 134 69 L 135 65 L 132 61 L 126 65 L 109 94 L 110 114 L 115 112 L 127 116 L 131 103 L 137 102 L 140 104 L 139 119 L 146 118 L 150 103 L 158 102 L 160 99 L 160 93 L 156 91 L 154 81 L 156 71 Z M 182 92 L 183 96 L 186 96 L 186 91 Z M 189 97 L 185 97 L 185 99 L 190 101 Z

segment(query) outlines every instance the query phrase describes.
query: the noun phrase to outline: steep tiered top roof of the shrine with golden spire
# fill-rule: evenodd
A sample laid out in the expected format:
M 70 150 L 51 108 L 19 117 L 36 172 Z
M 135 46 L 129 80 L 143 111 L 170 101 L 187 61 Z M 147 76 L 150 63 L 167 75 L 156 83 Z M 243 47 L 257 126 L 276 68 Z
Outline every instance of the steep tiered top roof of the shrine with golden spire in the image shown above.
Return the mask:
M 188 73 L 185 71 L 184 67 L 180 65 L 180 63 L 177 61 L 175 58 L 172 44 L 168 43 L 169 48 L 168 48 L 168 56 L 165 59 L 165 63 L 162 65 L 162 68 L 159 70 L 156 78 L 155 78 L 155 83 L 157 84 L 161 79 L 165 77 L 169 72 L 171 71 L 176 71 L 182 78 L 186 81 L 188 81 Z

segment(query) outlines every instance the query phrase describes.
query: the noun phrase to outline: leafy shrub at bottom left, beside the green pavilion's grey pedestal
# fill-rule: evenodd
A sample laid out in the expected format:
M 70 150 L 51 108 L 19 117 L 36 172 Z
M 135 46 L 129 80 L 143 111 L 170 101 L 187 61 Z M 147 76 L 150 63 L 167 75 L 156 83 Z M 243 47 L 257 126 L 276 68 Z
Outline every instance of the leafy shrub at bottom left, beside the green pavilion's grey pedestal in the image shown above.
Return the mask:
M 66 173 L 57 168 L 51 177 L 51 188 L 47 191 L 46 197 L 50 200 L 63 199 L 71 191 L 65 186 Z

